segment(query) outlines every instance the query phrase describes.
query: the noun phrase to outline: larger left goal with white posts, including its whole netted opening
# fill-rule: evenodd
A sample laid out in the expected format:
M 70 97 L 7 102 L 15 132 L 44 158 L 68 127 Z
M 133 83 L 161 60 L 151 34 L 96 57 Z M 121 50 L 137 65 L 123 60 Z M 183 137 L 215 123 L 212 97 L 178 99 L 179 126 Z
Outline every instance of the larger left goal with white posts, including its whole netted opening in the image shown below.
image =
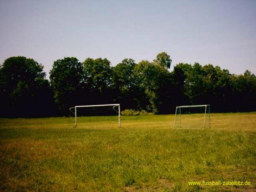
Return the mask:
M 77 127 L 121 127 L 120 104 L 107 105 L 79 105 L 70 108 L 70 113 L 74 116 L 74 124 Z M 118 116 L 118 117 L 117 117 Z

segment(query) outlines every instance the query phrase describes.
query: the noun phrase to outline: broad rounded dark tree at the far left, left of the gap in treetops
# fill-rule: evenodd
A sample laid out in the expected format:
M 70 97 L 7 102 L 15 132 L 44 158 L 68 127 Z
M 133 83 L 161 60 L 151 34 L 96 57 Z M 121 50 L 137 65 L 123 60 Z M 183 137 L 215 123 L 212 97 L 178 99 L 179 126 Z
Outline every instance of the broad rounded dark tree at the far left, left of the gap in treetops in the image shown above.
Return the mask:
M 31 58 L 11 57 L 0 68 L 1 116 L 52 116 L 54 103 L 43 66 Z

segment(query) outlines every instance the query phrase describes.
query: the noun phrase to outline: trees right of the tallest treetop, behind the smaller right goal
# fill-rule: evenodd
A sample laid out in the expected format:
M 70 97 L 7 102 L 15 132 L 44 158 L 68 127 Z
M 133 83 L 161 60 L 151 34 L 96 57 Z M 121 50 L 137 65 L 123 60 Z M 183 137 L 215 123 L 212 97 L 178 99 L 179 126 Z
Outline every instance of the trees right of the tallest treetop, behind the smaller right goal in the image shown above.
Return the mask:
M 210 104 L 212 112 L 256 110 L 255 75 L 249 71 L 236 76 L 212 64 L 178 64 L 172 76 L 177 90 L 185 96 L 183 105 Z

